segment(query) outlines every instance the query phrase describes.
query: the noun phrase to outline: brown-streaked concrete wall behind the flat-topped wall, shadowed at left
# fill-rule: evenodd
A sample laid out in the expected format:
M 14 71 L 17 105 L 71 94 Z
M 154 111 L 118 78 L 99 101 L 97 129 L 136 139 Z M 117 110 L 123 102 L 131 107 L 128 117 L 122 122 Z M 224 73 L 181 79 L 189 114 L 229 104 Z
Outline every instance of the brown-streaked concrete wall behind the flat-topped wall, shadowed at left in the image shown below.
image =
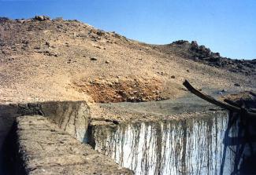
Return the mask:
M 35 104 L 0 105 L 0 156 L 2 143 L 16 117 L 43 115 L 50 118 L 78 140 L 82 141 L 91 118 L 90 108 L 85 101 L 50 101 Z

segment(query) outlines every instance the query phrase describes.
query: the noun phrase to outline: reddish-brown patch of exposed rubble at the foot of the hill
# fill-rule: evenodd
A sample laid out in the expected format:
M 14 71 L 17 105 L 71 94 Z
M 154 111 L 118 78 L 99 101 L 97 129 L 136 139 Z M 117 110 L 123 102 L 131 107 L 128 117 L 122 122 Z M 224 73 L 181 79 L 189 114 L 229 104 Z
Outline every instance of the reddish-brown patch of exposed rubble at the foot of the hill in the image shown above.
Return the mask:
M 95 79 L 73 82 L 73 87 L 79 92 L 87 93 L 98 103 L 168 99 L 161 94 L 161 82 L 154 78 Z

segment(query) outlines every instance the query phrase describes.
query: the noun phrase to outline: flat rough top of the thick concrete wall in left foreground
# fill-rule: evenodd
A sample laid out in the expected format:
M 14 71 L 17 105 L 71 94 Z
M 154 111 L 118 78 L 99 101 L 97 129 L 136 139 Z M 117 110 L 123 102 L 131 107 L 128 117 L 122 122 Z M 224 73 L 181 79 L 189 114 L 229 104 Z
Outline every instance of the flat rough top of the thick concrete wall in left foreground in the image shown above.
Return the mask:
M 18 117 L 16 133 L 25 173 L 133 174 L 43 116 Z

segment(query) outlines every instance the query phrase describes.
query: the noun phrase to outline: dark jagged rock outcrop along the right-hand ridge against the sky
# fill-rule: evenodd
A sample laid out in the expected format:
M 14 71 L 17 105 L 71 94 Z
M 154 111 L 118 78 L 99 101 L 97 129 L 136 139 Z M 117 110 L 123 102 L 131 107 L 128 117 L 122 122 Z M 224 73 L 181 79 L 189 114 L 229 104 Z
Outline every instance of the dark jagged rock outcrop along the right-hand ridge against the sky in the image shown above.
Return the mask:
M 176 49 L 176 53 L 197 62 L 208 64 L 213 67 L 224 68 L 228 71 L 243 73 L 244 75 L 256 75 L 256 59 L 232 60 L 221 57 L 220 53 L 213 53 L 206 46 L 199 46 L 197 42 L 179 40 L 168 45 Z M 170 48 L 171 49 L 171 48 Z

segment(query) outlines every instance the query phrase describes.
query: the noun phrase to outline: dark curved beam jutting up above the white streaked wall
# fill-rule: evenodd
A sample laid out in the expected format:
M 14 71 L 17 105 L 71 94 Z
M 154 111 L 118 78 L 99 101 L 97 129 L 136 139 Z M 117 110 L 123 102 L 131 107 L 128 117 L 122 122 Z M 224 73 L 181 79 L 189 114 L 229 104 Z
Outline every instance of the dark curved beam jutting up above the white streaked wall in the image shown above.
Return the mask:
M 228 109 L 230 111 L 235 111 L 235 112 L 242 112 L 243 110 L 239 107 L 233 106 L 232 104 L 227 104 L 224 103 L 220 100 L 216 100 L 213 97 L 210 97 L 209 95 L 207 95 L 206 93 L 202 93 L 200 92 L 198 89 L 195 89 L 193 86 L 191 86 L 191 84 L 185 80 L 183 85 L 191 92 L 194 93 L 196 96 L 202 98 L 203 100 L 206 100 L 208 102 L 210 102 L 211 104 L 215 104 L 221 108 L 225 108 Z M 256 114 L 250 111 L 247 111 L 247 115 L 256 117 Z

